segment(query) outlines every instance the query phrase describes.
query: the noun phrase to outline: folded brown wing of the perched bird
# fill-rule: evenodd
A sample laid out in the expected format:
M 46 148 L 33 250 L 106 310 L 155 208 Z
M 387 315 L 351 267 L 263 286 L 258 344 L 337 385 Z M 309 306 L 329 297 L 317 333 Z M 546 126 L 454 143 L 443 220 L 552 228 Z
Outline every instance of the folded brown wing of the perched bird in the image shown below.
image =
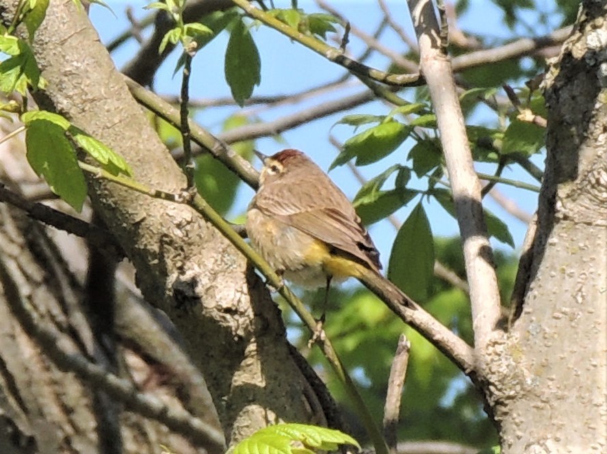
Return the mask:
M 381 269 L 379 253 L 345 196 L 343 209 L 307 207 L 302 210 L 289 202 L 289 198 L 256 199 L 255 206 L 263 213 L 323 241 L 331 248 L 358 258 L 374 271 Z

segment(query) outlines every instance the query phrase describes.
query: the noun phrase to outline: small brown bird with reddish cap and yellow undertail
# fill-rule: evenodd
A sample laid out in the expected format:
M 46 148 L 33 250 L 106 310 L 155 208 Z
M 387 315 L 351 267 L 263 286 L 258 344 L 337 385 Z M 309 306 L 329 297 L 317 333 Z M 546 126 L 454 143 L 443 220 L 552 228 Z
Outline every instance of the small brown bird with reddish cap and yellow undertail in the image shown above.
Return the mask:
M 346 195 L 304 153 L 288 149 L 263 161 L 259 189 L 248 206 L 246 230 L 253 247 L 283 276 L 301 286 L 332 279 L 380 276 L 376 289 L 412 306 L 381 277 L 379 253 Z M 376 280 L 377 281 L 377 280 Z M 373 289 L 372 289 L 373 290 Z

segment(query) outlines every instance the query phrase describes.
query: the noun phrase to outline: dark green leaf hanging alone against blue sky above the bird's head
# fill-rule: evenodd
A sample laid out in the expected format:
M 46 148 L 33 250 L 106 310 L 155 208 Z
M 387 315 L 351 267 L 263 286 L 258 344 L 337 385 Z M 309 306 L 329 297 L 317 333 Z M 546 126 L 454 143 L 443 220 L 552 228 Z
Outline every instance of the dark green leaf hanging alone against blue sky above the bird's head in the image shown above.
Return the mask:
M 242 21 L 237 21 L 230 34 L 225 57 L 225 76 L 234 101 L 244 105 L 261 82 L 261 60 L 253 38 Z

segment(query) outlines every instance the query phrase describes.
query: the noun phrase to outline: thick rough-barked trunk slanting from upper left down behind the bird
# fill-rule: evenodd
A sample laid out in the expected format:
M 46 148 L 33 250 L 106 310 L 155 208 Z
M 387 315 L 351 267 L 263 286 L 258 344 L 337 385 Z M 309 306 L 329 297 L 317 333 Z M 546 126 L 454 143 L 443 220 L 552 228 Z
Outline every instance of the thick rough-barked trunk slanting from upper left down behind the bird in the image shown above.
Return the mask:
M 0 1 L 5 23 L 15 5 Z M 36 98 L 42 108 L 114 148 L 142 183 L 183 189 L 183 174 L 72 0 L 51 1 L 33 49 L 49 82 Z M 279 420 L 325 422 L 289 353 L 279 310 L 231 244 L 187 206 L 95 180 L 90 196 L 135 266 L 144 297 L 170 317 L 203 372 L 228 440 Z

